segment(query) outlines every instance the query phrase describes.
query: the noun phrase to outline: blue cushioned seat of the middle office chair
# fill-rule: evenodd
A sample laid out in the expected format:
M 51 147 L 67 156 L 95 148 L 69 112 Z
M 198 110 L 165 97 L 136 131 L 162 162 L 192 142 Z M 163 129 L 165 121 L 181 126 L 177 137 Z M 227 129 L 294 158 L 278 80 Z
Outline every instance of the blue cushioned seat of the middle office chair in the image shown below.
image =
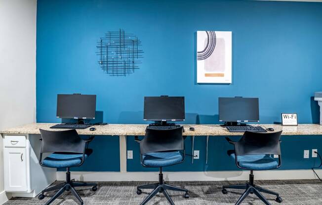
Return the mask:
M 183 161 L 179 151 L 151 152 L 142 156 L 142 164 L 147 167 L 166 167 Z

